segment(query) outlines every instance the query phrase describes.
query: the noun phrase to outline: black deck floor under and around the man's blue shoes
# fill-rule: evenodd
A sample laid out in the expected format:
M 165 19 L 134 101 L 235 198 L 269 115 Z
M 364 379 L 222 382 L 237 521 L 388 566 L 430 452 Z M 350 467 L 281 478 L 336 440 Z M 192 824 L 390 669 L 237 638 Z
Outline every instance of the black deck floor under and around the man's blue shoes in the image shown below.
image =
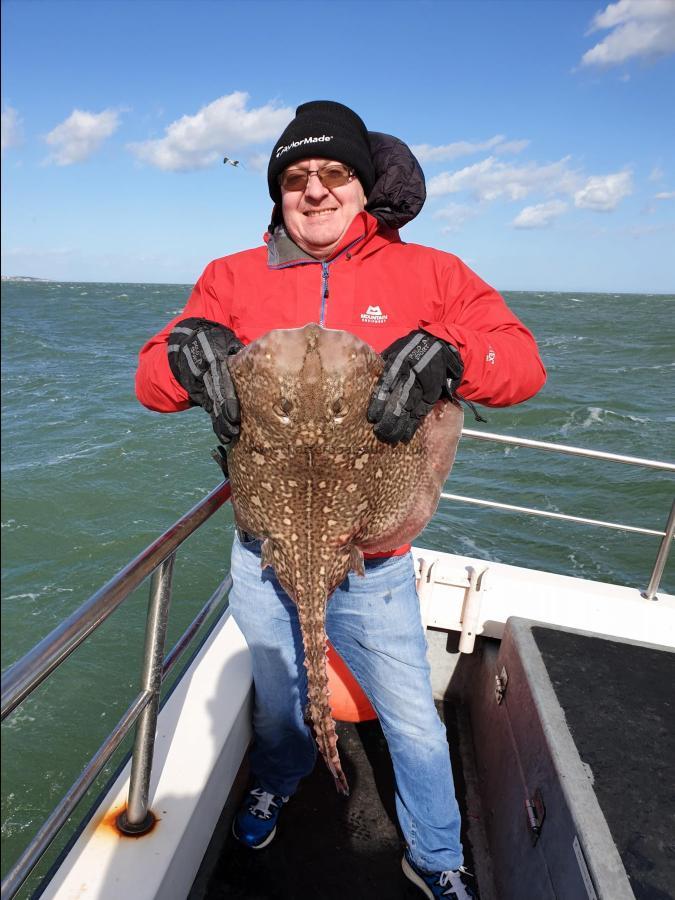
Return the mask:
M 452 707 L 439 705 L 451 747 L 455 787 L 465 786 Z M 339 796 L 319 758 L 284 809 L 277 835 L 263 850 L 227 838 L 205 893 L 207 900 L 414 900 L 420 892 L 401 872 L 403 840 L 396 824 L 394 782 L 377 721 L 338 724 L 340 759 L 351 794 Z M 465 865 L 471 848 L 462 835 Z

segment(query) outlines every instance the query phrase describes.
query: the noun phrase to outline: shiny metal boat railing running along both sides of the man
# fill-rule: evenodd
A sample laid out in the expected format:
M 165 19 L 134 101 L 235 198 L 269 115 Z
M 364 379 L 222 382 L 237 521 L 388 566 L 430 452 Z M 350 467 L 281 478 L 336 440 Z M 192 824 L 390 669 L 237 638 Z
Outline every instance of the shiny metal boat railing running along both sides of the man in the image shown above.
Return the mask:
M 608 462 L 643 466 L 675 472 L 675 464 L 640 457 L 622 456 L 564 444 L 552 444 L 527 438 L 464 429 L 463 436 L 479 440 L 507 443 L 573 456 L 590 457 Z M 475 497 L 442 493 L 441 497 L 462 503 L 490 506 L 528 515 L 615 528 L 627 532 L 649 534 L 662 538 L 647 588 L 643 596 L 653 600 L 666 565 L 675 528 L 675 503 L 664 530 L 639 528 L 597 519 L 555 513 L 548 510 L 515 506 Z M 209 519 L 230 498 L 226 480 L 182 516 L 164 534 L 128 563 L 101 587 L 79 609 L 55 628 L 20 660 L 10 666 L 2 677 L 2 719 L 4 720 L 51 673 L 67 659 L 121 603 L 148 577 L 152 576 L 145 632 L 145 652 L 141 689 L 122 718 L 86 764 L 80 776 L 69 788 L 56 809 L 30 841 L 20 858 L 2 882 L 2 900 L 10 900 L 18 892 L 33 868 L 44 855 L 59 830 L 73 813 L 77 804 L 92 786 L 105 764 L 137 723 L 132 751 L 128 802 L 117 818 L 117 827 L 124 834 L 140 835 L 149 830 L 154 816 L 149 810 L 148 794 L 152 771 L 155 733 L 161 686 L 178 660 L 183 656 L 202 624 L 227 594 L 231 586 L 228 573 L 215 592 L 199 611 L 172 650 L 164 656 L 164 645 L 172 594 L 172 580 L 176 553 L 180 545 Z

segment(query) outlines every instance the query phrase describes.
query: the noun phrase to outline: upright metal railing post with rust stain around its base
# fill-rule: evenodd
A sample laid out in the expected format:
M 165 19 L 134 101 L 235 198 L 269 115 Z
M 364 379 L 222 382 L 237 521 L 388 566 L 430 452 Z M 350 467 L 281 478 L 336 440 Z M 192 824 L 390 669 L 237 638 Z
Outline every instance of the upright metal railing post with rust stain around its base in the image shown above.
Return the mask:
M 117 820 L 118 827 L 127 834 L 142 834 L 151 828 L 155 821 L 153 814 L 148 810 L 148 795 L 175 560 L 175 553 L 165 559 L 155 569 L 150 584 L 141 688 L 152 693 L 153 697 L 141 713 L 136 726 L 136 740 L 131 761 L 129 802 L 126 810 Z

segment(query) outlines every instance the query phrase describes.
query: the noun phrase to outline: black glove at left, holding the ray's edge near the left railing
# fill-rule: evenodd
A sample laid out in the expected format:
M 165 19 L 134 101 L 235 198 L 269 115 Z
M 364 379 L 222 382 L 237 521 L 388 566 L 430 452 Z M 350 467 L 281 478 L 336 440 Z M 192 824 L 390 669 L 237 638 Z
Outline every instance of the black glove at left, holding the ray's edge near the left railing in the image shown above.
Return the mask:
M 208 319 L 182 319 L 169 335 L 169 366 L 193 404 L 211 416 L 218 440 L 229 444 L 239 434 L 239 401 L 227 357 L 244 345 L 234 332 Z

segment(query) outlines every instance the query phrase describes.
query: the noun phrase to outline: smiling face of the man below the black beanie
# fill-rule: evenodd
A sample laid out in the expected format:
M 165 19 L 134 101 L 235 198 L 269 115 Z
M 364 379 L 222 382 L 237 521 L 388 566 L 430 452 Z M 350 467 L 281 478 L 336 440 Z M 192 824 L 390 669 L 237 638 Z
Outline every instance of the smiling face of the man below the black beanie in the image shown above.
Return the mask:
M 331 164 L 342 165 L 329 159 L 303 159 L 288 170 L 316 172 Z M 298 247 L 316 259 L 327 259 L 354 217 L 365 209 L 366 197 L 356 176 L 347 184 L 328 189 L 317 175 L 310 175 L 304 191 L 281 188 L 281 205 L 286 231 Z

